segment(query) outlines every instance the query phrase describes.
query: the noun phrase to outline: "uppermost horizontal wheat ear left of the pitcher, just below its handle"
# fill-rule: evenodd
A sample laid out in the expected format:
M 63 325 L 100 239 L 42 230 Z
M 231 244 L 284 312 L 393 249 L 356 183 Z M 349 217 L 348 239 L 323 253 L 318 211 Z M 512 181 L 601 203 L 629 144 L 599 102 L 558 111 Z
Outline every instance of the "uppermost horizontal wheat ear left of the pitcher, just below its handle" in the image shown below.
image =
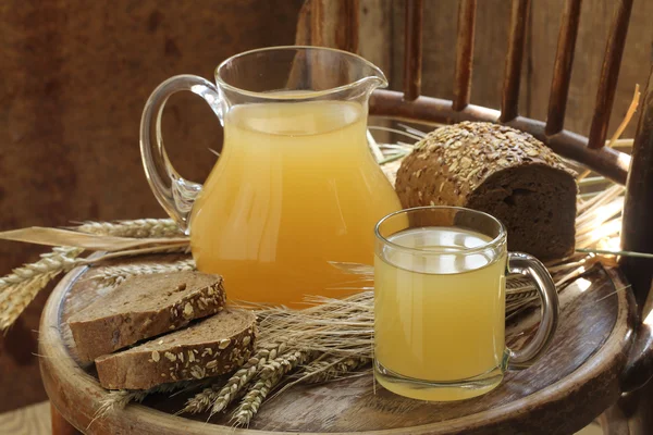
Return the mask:
M 103 236 L 158 238 L 182 237 L 184 232 L 172 219 L 137 219 L 134 221 L 85 222 L 74 229 Z

